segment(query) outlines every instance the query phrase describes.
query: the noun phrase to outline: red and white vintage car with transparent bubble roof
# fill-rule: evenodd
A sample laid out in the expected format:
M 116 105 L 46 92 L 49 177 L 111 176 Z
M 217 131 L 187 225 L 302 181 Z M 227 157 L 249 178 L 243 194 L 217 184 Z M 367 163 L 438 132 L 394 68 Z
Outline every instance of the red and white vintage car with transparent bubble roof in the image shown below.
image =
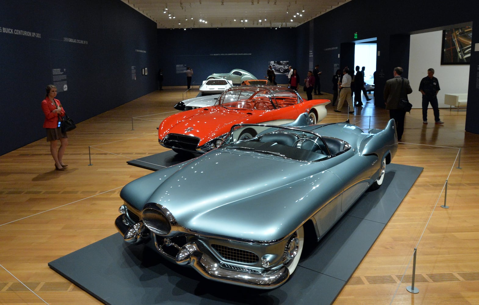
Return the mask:
M 170 115 L 158 129 L 158 140 L 177 153 L 205 153 L 216 148 L 232 124 L 285 124 L 308 112 L 310 123 L 326 117 L 329 100 L 305 101 L 282 86 L 236 86 L 224 91 L 215 105 Z M 255 135 L 251 135 L 255 136 Z

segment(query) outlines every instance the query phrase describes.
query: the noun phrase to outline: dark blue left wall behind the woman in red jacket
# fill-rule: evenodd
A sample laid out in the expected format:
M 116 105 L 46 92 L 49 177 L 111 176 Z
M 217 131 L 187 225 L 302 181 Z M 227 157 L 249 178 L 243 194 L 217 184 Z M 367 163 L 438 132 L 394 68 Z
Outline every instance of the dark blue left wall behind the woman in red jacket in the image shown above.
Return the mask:
M 40 104 L 54 68 L 66 69 L 68 90 L 57 98 L 75 122 L 155 90 L 156 24 L 122 1 L 0 0 L 0 7 L 0 155 L 46 136 Z

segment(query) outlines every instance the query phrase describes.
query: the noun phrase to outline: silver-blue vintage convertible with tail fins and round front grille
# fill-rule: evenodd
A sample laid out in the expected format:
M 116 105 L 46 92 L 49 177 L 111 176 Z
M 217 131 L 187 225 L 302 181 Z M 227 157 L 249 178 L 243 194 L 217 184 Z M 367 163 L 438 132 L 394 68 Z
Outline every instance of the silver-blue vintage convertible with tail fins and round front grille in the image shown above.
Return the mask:
M 384 130 L 308 123 L 304 113 L 285 126 L 233 125 L 217 149 L 128 183 L 115 226 L 207 279 L 278 287 L 305 245 L 383 184 L 398 149 L 394 120 Z

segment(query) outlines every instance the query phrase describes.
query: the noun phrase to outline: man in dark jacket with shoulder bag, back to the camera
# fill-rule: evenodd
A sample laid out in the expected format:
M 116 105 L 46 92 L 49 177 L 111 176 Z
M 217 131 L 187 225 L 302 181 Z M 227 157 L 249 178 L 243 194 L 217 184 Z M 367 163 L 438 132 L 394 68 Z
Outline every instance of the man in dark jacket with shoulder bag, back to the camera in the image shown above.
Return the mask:
M 399 99 L 401 97 L 407 98 L 407 95 L 412 92 L 409 79 L 401 77 L 403 69 L 401 67 L 394 68 L 394 78 L 388 79 L 384 86 L 384 100 L 386 101 L 386 109 L 389 110 L 389 118 L 396 122 L 396 131 L 398 133 L 398 140 L 401 140 L 404 132 L 404 117 L 406 112 L 398 109 Z

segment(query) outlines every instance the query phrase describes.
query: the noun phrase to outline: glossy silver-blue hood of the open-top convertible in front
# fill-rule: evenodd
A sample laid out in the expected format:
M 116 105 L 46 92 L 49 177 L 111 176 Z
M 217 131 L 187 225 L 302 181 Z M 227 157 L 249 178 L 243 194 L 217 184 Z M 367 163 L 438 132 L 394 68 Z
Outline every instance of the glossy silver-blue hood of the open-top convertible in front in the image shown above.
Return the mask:
M 323 185 L 321 172 L 329 176 L 321 180 L 338 183 L 321 162 L 217 149 L 160 177 L 145 203 L 165 206 L 179 225 L 199 233 L 273 241 L 317 208 L 318 198 L 307 197 Z

